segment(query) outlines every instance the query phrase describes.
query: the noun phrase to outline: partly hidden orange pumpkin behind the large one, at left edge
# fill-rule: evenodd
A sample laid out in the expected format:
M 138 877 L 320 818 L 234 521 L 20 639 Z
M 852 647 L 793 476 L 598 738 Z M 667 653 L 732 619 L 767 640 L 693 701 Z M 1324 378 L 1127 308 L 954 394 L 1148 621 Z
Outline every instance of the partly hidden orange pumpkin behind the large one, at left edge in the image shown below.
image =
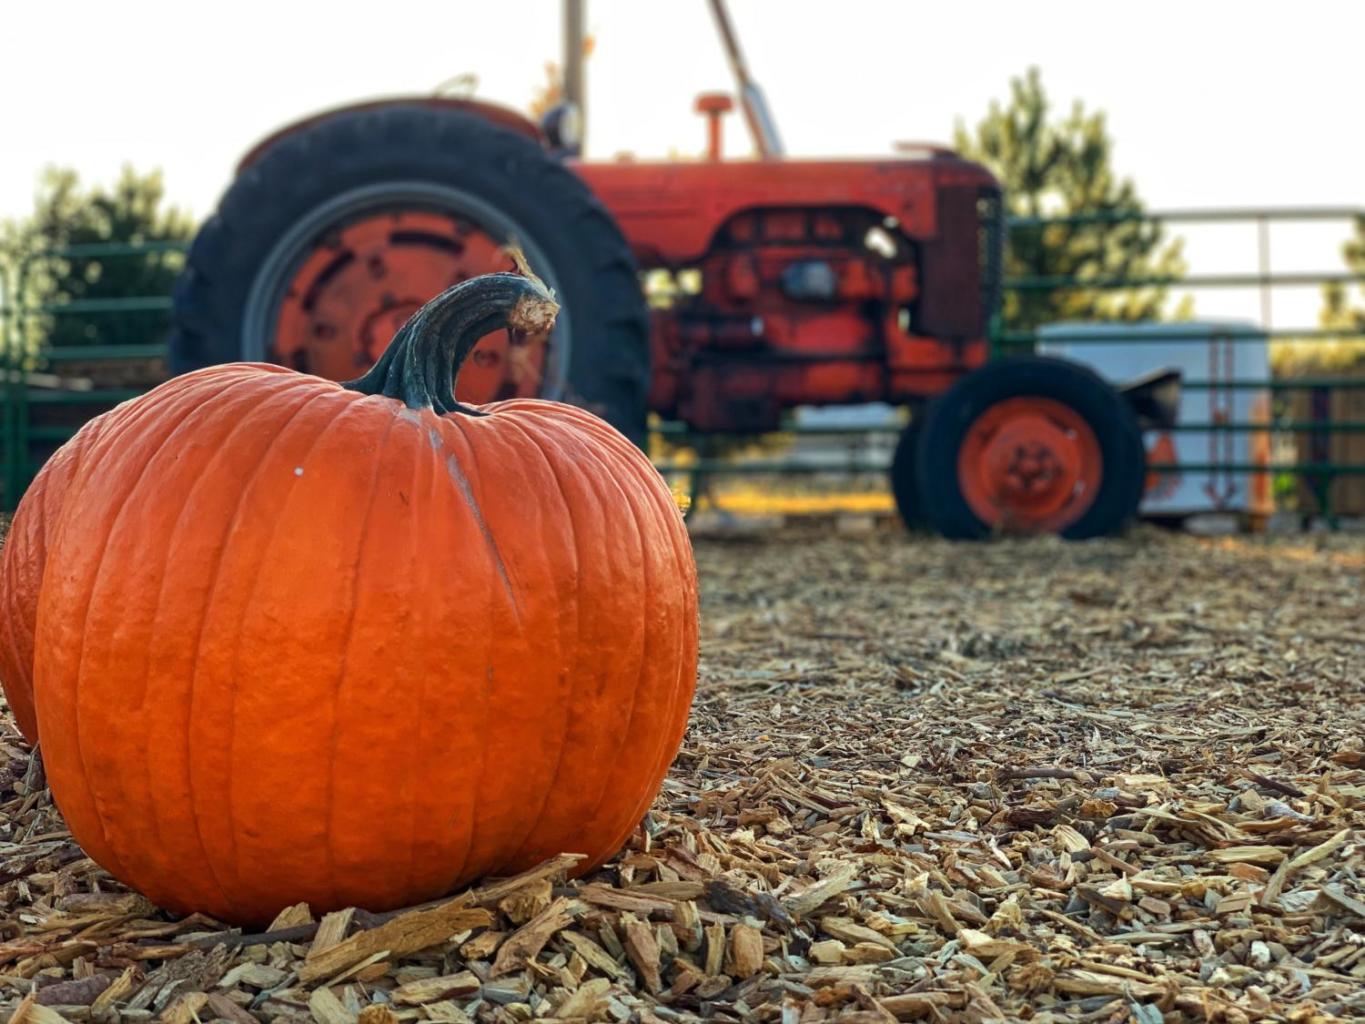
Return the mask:
M 89 421 L 44 463 L 10 520 L 0 556 L 0 685 L 19 732 L 30 744 L 38 741 L 33 714 L 33 631 L 48 560 L 48 522 L 61 509 L 71 474 L 102 422 L 104 416 Z

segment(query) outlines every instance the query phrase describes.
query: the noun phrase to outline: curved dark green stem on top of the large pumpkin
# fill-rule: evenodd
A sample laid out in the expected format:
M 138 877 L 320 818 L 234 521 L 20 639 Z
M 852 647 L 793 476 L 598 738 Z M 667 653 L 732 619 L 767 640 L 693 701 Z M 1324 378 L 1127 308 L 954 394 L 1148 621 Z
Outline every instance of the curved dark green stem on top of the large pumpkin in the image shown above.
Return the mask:
M 446 288 L 419 309 L 370 371 L 341 386 L 399 399 L 408 408 L 486 415 L 455 400 L 460 367 L 485 335 L 509 328 L 545 335 L 558 303 L 534 274 L 495 273 Z

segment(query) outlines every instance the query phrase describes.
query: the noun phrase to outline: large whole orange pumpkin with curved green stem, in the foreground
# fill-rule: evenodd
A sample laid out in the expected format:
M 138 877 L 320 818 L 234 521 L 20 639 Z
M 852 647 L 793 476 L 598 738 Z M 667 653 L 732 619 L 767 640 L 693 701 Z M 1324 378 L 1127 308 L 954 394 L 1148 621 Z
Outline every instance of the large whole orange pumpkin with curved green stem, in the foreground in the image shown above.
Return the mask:
M 90 440 L 34 688 L 53 796 L 113 875 L 261 923 L 625 842 L 695 684 L 687 531 L 591 414 L 453 399 L 480 336 L 554 310 L 474 279 L 359 381 L 210 367 Z

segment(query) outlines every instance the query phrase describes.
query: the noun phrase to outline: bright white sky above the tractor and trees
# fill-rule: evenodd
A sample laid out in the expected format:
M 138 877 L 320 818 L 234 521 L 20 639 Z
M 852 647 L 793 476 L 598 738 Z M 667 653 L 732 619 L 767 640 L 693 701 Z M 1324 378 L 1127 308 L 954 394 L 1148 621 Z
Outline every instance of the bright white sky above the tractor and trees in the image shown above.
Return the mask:
M 732 0 L 788 149 L 889 153 L 947 141 L 1031 64 L 1058 106 L 1108 113 L 1119 171 L 1153 209 L 1365 206 L 1361 0 L 1100 4 Z M 588 0 L 590 156 L 696 152 L 696 93 L 729 72 L 703 0 Z M 0 18 L 0 217 L 45 164 L 109 179 L 161 167 L 173 202 L 212 210 L 236 158 L 280 123 L 474 72 L 524 108 L 560 53 L 558 0 L 8 0 Z M 745 149 L 730 119 L 728 145 Z M 1248 228 L 1186 229 L 1194 270 L 1253 270 Z M 1276 228 L 1275 269 L 1340 269 L 1345 224 Z M 1280 326 L 1316 289 L 1278 292 Z M 1256 296 L 1197 314 L 1254 315 Z

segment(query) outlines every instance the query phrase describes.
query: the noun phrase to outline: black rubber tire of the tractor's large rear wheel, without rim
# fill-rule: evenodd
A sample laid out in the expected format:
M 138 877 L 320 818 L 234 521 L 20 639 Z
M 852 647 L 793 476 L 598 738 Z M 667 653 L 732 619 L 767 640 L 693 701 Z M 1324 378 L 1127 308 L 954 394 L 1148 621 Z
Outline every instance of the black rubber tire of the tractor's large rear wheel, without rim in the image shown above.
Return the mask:
M 242 359 L 244 300 L 280 233 L 329 195 L 385 179 L 455 183 L 516 203 L 515 218 L 547 250 L 575 314 L 569 400 L 643 444 L 648 317 L 616 221 L 532 139 L 419 104 L 343 111 L 284 137 L 238 175 L 176 283 L 172 371 Z

